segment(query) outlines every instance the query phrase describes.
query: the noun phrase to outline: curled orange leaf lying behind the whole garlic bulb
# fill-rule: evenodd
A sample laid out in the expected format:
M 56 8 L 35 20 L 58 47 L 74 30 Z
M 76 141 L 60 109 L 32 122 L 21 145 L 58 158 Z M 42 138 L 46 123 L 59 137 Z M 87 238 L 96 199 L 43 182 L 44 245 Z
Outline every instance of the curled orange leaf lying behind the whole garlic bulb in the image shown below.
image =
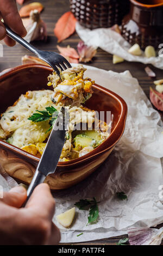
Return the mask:
M 43 7 L 43 5 L 41 3 L 34 2 L 34 3 L 27 4 L 27 5 L 23 6 L 20 9 L 19 13 L 20 13 L 21 17 L 29 17 L 30 11 L 37 10 L 37 11 L 39 11 L 39 13 L 41 13 L 43 8 L 44 7 Z

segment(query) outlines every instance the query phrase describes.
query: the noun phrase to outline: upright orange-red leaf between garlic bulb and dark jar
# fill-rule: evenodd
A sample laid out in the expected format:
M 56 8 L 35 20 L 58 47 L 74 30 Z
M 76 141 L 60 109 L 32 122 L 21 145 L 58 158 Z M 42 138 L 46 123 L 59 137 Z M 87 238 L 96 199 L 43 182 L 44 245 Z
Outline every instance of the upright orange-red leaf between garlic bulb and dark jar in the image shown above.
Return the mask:
M 60 17 L 54 28 L 54 34 L 57 36 L 58 42 L 63 41 L 75 32 L 76 22 L 77 20 L 71 11 Z

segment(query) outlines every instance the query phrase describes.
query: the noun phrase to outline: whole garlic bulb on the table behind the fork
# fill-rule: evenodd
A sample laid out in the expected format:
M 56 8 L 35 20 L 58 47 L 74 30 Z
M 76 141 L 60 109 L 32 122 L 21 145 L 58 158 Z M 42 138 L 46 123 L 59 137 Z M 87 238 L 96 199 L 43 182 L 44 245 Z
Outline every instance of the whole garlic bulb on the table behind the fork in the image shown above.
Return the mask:
M 22 20 L 23 21 L 23 20 Z M 27 25 L 26 25 L 27 24 Z M 27 30 L 27 35 L 24 39 L 27 42 L 47 40 L 47 28 L 45 22 L 40 19 L 39 11 L 30 12 L 29 23 L 24 20 L 24 26 Z

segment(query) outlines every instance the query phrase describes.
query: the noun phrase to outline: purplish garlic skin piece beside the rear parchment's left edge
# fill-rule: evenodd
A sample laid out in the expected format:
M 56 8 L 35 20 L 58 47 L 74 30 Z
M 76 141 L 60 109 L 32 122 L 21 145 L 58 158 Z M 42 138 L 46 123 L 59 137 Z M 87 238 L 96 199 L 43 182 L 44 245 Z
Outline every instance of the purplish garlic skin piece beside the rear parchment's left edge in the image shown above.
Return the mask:
M 97 47 L 95 46 L 87 46 L 83 41 L 80 41 L 77 46 L 79 53 L 79 62 L 90 62 L 91 59 L 95 56 L 97 52 Z

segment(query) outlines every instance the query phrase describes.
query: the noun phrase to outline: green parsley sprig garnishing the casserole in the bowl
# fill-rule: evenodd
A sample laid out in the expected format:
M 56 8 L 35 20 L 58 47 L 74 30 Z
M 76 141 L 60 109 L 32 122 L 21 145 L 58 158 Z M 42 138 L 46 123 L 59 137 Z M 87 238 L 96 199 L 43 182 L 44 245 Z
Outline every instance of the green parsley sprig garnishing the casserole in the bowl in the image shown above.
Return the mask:
M 54 125 L 55 119 L 58 116 L 57 109 L 55 109 L 53 106 L 51 106 L 51 107 L 46 107 L 46 111 L 36 110 L 36 112 L 38 112 L 38 113 L 32 114 L 28 118 L 28 120 L 33 121 L 34 123 L 49 120 L 49 125 L 51 125 L 51 127 L 46 132 L 50 131 Z

